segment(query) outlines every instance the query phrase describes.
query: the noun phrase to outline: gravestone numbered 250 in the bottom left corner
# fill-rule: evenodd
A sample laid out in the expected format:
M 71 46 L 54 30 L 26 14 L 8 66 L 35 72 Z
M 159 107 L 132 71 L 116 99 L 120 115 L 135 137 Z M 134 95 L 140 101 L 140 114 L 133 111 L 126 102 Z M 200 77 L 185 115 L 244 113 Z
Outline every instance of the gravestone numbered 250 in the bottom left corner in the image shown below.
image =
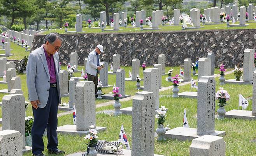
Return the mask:
M 0 131 L 0 155 L 22 156 L 22 135 L 19 131 Z

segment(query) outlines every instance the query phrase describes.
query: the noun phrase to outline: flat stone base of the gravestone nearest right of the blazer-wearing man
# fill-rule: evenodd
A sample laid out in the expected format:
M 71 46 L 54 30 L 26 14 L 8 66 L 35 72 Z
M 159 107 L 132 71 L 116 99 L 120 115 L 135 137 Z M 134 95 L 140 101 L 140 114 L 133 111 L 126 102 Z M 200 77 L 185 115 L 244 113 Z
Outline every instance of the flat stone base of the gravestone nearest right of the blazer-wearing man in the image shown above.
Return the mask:
M 96 130 L 98 132 L 105 131 L 106 129 L 107 129 L 106 127 L 96 126 Z M 59 134 L 70 134 L 70 135 L 87 135 L 87 134 L 89 134 L 89 130 L 77 131 L 76 130 L 76 125 L 66 124 L 66 125 L 57 127 L 57 133 L 59 133 Z

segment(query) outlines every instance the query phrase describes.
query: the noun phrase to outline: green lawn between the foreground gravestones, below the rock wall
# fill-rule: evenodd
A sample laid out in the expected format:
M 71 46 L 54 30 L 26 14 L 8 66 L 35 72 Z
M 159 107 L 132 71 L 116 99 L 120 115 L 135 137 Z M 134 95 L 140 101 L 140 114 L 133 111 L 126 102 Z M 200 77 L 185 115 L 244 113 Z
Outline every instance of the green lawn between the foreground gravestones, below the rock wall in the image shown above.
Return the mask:
M 233 74 L 226 75 L 226 79 L 233 79 Z M 230 93 L 231 99 L 228 101 L 228 105 L 225 106 L 226 111 L 231 109 L 237 109 L 238 106 L 238 93 L 247 98 L 252 96 L 252 85 L 234 85 L 226 84 L 225 86 L 219 85 L 218 78 L 216 80 L 216 91 L 219 87 L 224 87 Z M 190 85 L 179 86 L 180 92 L 189 91 Z M 160 95 L 171 95 L 172 91 L 167 90 L 160 92 Z M 252 100 L 249 100 L 249 107 L 247 110 L 251 110 Z M 183 111 L 187 110 L 187 118 L 189 127 L 196 128 L 196 111 L 197 111 L 197 99 L 190 98 L 172 98 L 162 97 L 160 98 L 160 105 L 165 105 L 168 108 L 167 118 L 165 126 L 170 124 L 170 128 L 182 126 Z M 122 107 L 132 106 L 132 100 L 122 102 Z M 98 110 L 112 109 L 112 106 L 105 106 L 98 108 Z M 216 111 L 218 106 L 216 104 Z M 72 124 L 72 114 L 59 117 L 58 126 L 65 124 Z M 132 145 L 132 116 L 121 115 L 114 117 L 112 115 L 97 114 L 96 115 L 97 126 L 107 126 L 107 131 L 99 133 L 98 136 L 101 140 L 118 140 L 121 123 L 124 123 L 126 135 L 130 145 Z M 226 131 L 224 140 L 226 142 L 226 156 L 254 156 L 256 153 L 256 144 L 250 142 L 250 140 L 256 138 L 255 133 L 256 121 L 248 121 L 241 119 L 224 119 L 222 121 L 215 120 L 215 130 Z M 155 129 L 156 129 L 155 124 Z M 87 141 L 83 137 L 78 135 L 58 135 L 59 148 L 66 151 L 65 155 L 77 152 L 85 151 Z M 47 144 L 47 137 L 44 137 L 45 145 Z M 165 156 L 188 156 L 189 146 L 191 141 L 176 141 L 155 140 L 155 153 Z M 46 150 L 47 151 L 47 150 Z M 46 152 L 45 151 L 45 152 Z M 25 154 L 25 156 L 32 156 L 32 154 Z

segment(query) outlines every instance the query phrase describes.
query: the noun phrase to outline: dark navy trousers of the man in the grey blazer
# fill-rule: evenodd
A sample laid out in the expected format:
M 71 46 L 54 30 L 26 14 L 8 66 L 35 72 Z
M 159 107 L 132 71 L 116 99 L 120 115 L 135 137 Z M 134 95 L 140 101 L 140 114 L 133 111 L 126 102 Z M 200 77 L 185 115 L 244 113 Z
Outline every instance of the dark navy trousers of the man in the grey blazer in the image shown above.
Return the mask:
M 50 87 L 49 98 L 44 108 L 33 108 L 34 123 L 31 130 L 32 153 L 34 155 L 44 151 L 43 134 L 47 128 L 47 149 L 56 150 L 58 146 L 57 126 L 58 126 L 58 91 L 57 88 Z

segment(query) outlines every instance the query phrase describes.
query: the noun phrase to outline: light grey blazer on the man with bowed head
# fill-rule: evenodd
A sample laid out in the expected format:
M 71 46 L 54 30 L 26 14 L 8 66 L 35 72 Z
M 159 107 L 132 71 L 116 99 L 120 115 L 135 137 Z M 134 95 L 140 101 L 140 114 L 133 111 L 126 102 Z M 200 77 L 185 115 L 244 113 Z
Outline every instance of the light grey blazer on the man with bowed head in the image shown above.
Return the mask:
M 60 98 L 60 83 L 59 83 L 59 54 L 56 52 L 53 55 L 55 71 L 56 71 L 56 81 L 57 90 L 59 95 L 59 103 L 61 103 Z M 50 74 L 47 66 L 46 56 L 44 54 L 43 46 L 35 49 L 30 53 L 28 57 L 28 63 L 26 67 L 26 81 L 28 86 L 28 100 L 35 101 L 39 100 L 39 108 L 46 107 L 49 89 L 50 89 Z

